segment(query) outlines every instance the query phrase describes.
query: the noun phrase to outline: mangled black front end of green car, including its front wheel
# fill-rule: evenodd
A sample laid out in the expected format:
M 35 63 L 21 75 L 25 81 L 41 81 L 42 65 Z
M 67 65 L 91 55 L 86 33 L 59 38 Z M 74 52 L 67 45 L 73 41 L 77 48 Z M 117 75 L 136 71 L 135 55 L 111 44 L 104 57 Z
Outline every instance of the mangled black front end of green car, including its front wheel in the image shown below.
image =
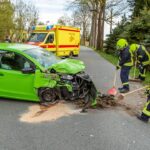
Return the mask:
M 42 102 L 84 100 L 85 107 L 96 102 L 97 90 L 89 75 L 84 72 L 75 75 L 59 74 L 59 78 L 56 87 L 45 88 L 40 92 Z M 48 95 L 43 96 L 44 93 Z

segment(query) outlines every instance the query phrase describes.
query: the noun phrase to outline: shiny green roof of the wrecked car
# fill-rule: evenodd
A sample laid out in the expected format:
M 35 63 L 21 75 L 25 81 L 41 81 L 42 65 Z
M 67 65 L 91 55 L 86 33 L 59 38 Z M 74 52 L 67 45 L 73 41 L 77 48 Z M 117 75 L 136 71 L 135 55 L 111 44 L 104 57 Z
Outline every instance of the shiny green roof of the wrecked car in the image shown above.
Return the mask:
M 18 44 L 18 43 L 0 43 L 0 50 L 9 50 L 9 51 L 25 51 L 28 49 L 34 49 L 37 46 L 28 45 L 28 44 Z

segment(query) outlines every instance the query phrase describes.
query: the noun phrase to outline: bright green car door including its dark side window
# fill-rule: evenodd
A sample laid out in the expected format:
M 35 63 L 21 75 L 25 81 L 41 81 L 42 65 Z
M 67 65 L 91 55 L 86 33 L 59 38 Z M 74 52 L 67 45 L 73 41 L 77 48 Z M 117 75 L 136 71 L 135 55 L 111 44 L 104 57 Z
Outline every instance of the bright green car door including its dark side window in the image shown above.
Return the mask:
M 35 73 L 22 73 L 26 68 L 35 66 L 24 56 L 14 52 L 0 54 L 0 96 L 37 100 L 33 87 Z

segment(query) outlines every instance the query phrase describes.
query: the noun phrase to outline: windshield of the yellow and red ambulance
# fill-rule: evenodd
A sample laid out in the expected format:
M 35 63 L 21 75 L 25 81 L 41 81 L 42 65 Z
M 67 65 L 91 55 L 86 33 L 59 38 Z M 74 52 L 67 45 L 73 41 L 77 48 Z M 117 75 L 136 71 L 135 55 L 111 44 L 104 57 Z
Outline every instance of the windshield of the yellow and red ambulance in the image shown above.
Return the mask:
M 43 42 L 47 33 L 32 33 L 28 42 Z

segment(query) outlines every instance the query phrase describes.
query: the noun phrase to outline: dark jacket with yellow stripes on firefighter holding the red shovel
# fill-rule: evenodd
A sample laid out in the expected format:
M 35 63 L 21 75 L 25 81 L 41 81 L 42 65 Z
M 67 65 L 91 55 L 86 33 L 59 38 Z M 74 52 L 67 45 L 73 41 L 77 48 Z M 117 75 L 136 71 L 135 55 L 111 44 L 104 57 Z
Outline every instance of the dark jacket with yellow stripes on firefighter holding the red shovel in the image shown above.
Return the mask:
M 121 50 L 119 53 L 119 66 L 133 66 L 133 54 L 129 47 Z

